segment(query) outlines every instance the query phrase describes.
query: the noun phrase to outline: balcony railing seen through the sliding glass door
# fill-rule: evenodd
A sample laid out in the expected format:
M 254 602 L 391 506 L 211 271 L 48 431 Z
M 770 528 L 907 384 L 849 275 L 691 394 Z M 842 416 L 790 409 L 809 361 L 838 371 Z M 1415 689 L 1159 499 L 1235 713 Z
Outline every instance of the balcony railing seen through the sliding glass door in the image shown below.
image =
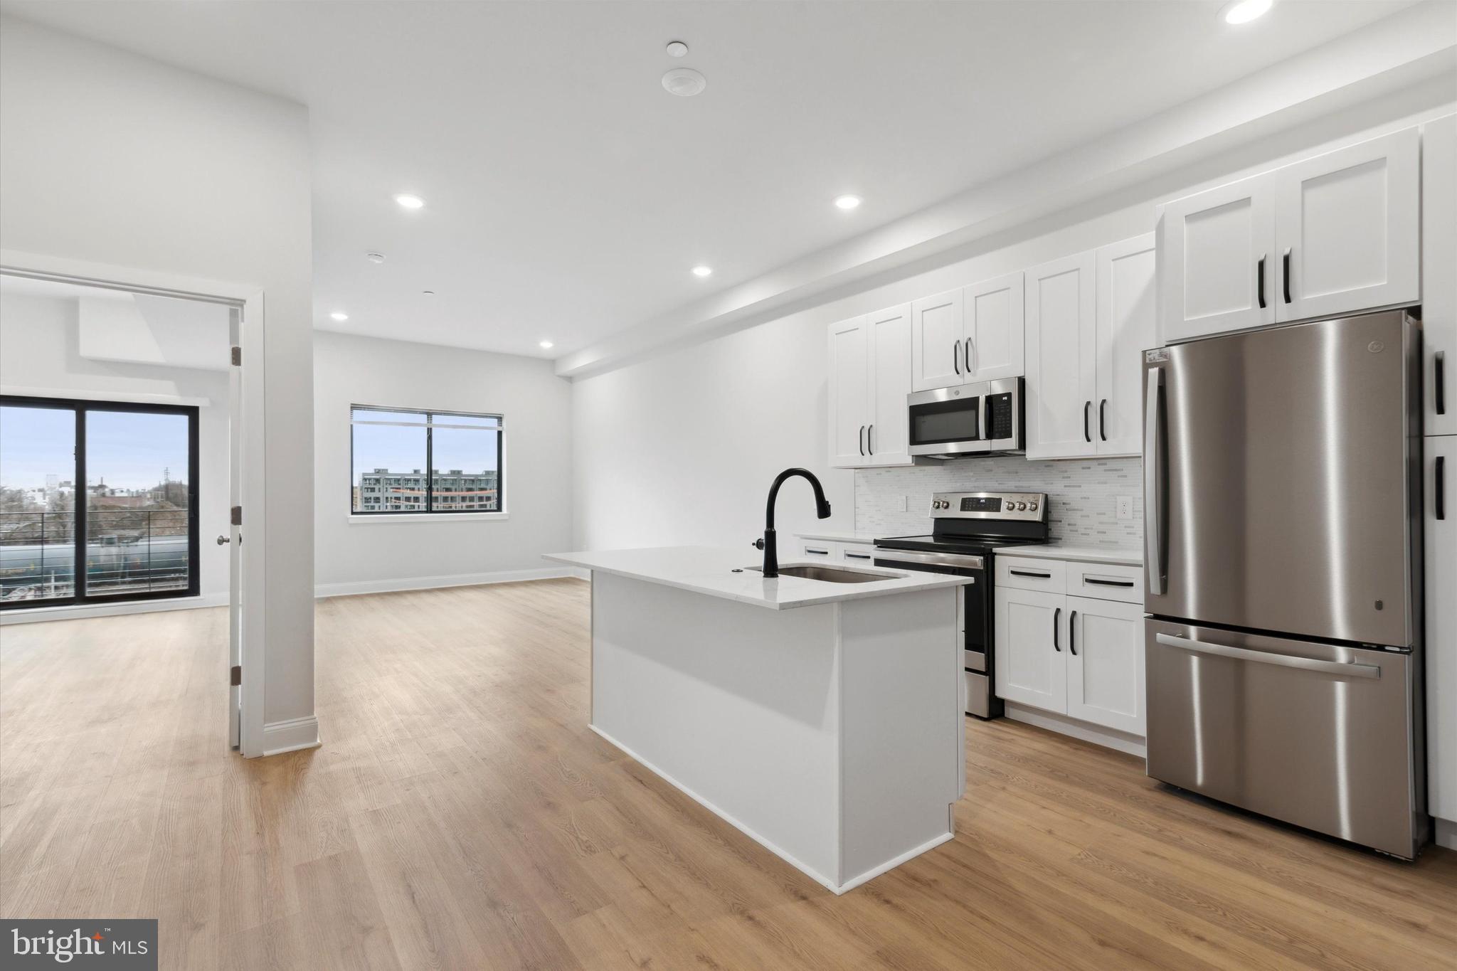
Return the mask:
M 188 510 L 90 510 L 87 595 L 186 590 Z M 74 597 L 76 514 L 0 512 L 0 600 Z

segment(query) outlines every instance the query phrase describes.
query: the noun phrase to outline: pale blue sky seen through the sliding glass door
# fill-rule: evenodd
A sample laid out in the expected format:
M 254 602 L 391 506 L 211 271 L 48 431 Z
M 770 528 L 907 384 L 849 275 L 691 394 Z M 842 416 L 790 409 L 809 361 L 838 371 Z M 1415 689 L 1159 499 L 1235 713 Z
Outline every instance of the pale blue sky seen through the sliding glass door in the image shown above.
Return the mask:
M 0 486 L 32 489 L 47 475 L 76 477 L 76 415 L 55 408 L 0 408 Z M 86 477 L 118 489 L 186 482 L 186 416 L 92 409 L 86 425 Z

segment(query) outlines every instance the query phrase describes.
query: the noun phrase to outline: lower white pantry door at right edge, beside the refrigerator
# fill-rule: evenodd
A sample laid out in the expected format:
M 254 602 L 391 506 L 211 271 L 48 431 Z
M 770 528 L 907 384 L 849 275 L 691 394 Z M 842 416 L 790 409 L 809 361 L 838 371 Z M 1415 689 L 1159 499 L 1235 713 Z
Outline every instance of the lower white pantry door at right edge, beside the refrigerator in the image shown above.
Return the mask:
M 1457 821 L 1457 435 L 1422 441 L 1426 553 L 1426 802 Z

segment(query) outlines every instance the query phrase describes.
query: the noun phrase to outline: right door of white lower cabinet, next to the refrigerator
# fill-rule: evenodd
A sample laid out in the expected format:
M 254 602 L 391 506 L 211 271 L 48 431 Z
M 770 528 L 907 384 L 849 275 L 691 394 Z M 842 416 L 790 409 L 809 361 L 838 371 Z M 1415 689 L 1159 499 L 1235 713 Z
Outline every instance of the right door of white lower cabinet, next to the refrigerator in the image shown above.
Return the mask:
M 1068 597 L 1068 710 L 1144 734 L 1144 606 Z

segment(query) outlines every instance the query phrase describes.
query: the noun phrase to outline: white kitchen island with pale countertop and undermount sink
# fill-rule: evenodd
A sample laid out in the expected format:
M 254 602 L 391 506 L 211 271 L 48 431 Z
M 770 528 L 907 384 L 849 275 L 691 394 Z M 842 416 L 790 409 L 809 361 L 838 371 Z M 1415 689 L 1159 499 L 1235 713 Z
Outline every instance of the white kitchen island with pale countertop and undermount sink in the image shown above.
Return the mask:
M 836 894 L 951 839 L 966 578 L 765 578 L 714 547 L 546 559 L 592 571 L 590 724 L 613 745 Z

